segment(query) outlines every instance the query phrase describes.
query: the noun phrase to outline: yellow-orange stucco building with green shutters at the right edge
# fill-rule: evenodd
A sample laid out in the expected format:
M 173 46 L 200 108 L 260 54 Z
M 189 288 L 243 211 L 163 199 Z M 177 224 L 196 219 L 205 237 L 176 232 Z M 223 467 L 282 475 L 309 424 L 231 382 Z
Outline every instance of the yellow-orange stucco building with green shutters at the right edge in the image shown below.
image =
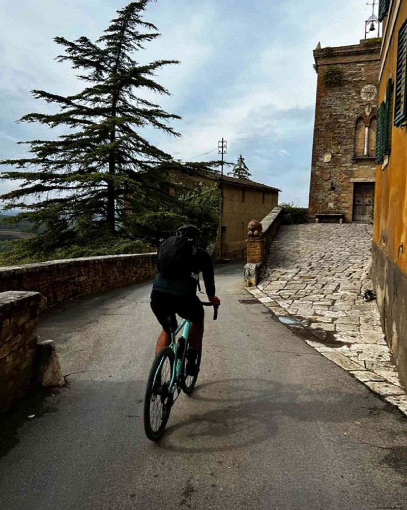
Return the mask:
M 380 0 L 379 6 L 372 279 L 387 342 L 407 385 L 407 2 Z

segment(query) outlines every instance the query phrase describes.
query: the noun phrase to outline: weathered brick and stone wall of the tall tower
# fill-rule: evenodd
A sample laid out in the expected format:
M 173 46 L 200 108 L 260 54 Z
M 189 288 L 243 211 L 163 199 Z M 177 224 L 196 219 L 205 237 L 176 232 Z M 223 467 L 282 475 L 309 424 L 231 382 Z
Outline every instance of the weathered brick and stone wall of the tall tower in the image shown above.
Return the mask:
M 361 97 L 366 85 L 377 85 L 380 44 L 323 48 L 314 51 L 318 72 L 311 170 L 310 214 L 341 213 L 352 221 L 355 183 L 375 181 L 374 145 L 377 94 Z M 323 75 L 340 66 L 344 80 L 326 88 Z M 368 155 L 365 127 L 370 125 Z

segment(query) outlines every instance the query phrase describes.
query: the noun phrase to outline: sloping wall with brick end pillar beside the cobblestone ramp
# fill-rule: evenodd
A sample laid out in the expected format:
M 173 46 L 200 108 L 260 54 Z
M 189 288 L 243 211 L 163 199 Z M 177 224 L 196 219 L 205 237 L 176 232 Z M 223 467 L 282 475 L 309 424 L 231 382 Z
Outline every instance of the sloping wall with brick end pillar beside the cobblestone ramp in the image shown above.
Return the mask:
M 259 237 L 248 237 L 246 240 L 247 259 L 244 268 L 244 286 L 256 287 L 260 266 L 264 263 L 270 245 L 283 222 L 283 210 L 275 207 L 263 220 L 262 234 Z

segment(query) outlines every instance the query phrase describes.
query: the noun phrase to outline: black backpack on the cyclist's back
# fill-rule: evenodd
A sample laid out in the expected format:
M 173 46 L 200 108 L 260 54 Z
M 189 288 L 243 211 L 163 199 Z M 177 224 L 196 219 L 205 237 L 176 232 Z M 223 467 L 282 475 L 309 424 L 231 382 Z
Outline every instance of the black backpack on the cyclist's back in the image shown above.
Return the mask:
M 187 236 L 171 236 L 158 248 L 157 265 L 167 279 L 188 279 L 192 275 L 195 242 Z

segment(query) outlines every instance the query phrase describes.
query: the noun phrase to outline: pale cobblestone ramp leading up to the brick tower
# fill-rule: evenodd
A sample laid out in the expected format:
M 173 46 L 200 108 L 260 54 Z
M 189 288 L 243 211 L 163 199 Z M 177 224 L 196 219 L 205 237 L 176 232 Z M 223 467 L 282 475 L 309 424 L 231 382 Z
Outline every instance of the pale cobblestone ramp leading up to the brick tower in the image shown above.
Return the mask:
M 248 290 L 290 327 L 311 328 L 308 344 L 407 414 L 376 301 L 363 297 L 372 289 L 371 241 L 371 225 L 283 226 Z

